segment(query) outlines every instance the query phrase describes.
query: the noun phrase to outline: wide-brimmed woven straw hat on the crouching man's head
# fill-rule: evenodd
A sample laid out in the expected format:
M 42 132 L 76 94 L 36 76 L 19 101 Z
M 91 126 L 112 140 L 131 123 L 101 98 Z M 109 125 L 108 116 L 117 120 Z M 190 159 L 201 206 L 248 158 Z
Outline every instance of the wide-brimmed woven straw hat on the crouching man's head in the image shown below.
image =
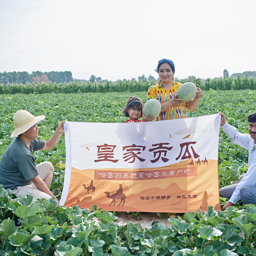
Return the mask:
M 23 132 L 28 131 L 30 127 L 45 118 L 42 116 L 33 116 L 27 110 L 19 110 L 13 115 L 14 132 L 11 134 L 11 138 L 20 135 Z

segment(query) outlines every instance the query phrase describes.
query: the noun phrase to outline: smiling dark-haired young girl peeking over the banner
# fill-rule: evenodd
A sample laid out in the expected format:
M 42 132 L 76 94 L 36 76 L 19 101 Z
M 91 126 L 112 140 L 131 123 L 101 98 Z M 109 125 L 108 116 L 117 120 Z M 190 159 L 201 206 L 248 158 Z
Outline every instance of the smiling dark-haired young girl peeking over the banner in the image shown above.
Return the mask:
M 150 115 L 150 113 L 148 114 L 148 116 L 144 116 L 142 109 L 142 101 L 139 98 L 132 95 L 128 99 L 126 107 L 123 111 L 124 116 L 129 117 L 129 120 L 126 120 L 125 123 L 148 122 L 155 119 L 153 115 Z M 142 120 L 138 120 L 140 117 L 142 117 Z

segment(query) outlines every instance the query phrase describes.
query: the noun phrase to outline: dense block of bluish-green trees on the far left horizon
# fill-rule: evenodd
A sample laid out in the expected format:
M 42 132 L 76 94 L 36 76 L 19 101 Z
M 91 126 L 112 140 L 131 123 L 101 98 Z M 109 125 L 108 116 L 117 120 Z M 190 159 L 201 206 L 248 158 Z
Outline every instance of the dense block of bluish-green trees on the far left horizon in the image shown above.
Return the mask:
M 51 71 L 41 72 L 33 71 L 32 74 L 28 72 L 0 72 L 0 84 L 28 84 L 33 83 L 33 77 L 41 77 L 46 75 L 52 83 L 69 83 L 73 81 L 72 73 L 70 71 Z

